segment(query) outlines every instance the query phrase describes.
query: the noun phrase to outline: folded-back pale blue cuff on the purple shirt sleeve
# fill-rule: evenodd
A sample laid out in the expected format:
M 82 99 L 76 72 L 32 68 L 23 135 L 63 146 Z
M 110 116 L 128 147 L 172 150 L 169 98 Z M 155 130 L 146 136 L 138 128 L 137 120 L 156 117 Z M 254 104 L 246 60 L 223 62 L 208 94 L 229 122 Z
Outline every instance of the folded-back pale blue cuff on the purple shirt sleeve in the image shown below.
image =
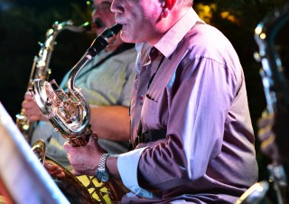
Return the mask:
M 133 191 L 135 195 L 147 199 L 153 199 L 154 195 L 151 191 L 144 190 L 138 185 L 137 181 L 137 167 L 138 161 L 144 152 L 144 148 L 135 149 L 128 153 L 122 153 L 117 158 L 117 169 L 121 180 L 127 189 Z

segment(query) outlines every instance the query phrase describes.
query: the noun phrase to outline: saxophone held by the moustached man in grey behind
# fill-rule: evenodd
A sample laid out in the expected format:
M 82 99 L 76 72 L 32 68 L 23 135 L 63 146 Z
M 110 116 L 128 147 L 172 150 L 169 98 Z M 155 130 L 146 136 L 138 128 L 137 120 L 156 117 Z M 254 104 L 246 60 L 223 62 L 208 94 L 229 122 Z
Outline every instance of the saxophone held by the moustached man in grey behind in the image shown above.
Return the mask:
M 51 53 L 54 48 L 56 37 L 63 30 L 70 30 L 72 32 L 84 32 L 88 30 L 89 23 L 84 23 L 81 26 L 73 26 L 73 23 L 69 20 L 63 23 L 55 22 L 52 24 L 52 28 L 46 32 L 46 39 L 44 43 L 40 43 L 41 50 L 38 56 L 33 59 L 33 68 L 28 81 L 28 88 L 31 88 L 34 79 L 46 79 L 48 80 L 51 75 L 51 69 L 49 68 Z M 88 29 L 87 29 L 88 28 Z M 16 125 L 20 132 L 24 135 L 25 139 L 30 142 L 33 134 L 34 123 L 30 122 L 24 115 L 24 109 L 22 108 L 20 114 L 16 115 Z

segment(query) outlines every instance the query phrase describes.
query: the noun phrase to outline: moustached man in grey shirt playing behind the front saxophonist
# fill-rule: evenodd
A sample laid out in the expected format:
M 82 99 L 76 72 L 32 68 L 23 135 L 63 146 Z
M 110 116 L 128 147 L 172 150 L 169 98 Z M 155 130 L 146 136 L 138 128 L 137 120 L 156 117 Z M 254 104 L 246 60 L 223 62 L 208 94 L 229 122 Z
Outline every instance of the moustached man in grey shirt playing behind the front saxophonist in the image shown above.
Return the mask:
M 93 1 L 92 30 L 97 34 L 116 23 L 110 11 L 111 3 L 112 0 Z M 128 107 L 135 77 L 135 58 L 134 44 L 122 42 L 117 35 L 116 42 L 89 61 L 75 82 L 89 101 L 90 124 L 98 129 L 99 144 L 108 153 L 123 153 L 128 148 Z M 61 88 L 65 88 L 68 75 L 62 80 Z M 23 108 L 29 121 L 40 121 L 33 132 L 31 144 L 43 139 L 47 155 L 68 167 L 67 154 L 62 148 L 66 140 L 42 115 L 28 93 L 24 97 Z

